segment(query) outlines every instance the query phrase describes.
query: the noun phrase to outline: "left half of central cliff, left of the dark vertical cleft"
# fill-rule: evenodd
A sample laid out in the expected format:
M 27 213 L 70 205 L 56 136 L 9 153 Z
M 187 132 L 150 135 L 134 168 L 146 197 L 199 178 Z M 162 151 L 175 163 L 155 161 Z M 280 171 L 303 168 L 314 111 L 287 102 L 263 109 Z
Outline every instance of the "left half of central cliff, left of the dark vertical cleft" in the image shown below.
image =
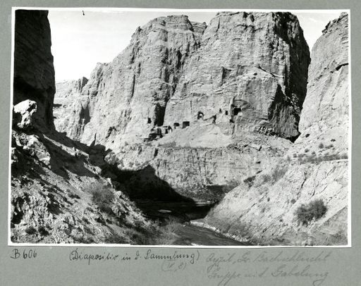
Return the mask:
M 74 104 L 70 122 L 82 142 L 115 146 L 143 139 L 154 125 L 163 125 L 166 103 L 173 95 L 186 58 L 199 46 L 206 25 L 188 17 L 156 18 L 138 27 L 129 46 L 114 61 L 99 63 Z M 73 124 L 63 126 L 69 132 Z

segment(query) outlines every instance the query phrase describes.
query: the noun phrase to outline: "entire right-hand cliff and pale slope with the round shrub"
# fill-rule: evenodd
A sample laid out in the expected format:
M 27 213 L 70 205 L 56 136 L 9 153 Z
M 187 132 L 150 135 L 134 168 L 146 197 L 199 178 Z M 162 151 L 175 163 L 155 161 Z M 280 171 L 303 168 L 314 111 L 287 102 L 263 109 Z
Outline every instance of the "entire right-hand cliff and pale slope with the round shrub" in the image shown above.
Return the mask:
M 302 135 L 288 157 L 229 192 L 204 222 L 261 244 L 347 244 L 348 88 L 343 13 L 312 49 Z

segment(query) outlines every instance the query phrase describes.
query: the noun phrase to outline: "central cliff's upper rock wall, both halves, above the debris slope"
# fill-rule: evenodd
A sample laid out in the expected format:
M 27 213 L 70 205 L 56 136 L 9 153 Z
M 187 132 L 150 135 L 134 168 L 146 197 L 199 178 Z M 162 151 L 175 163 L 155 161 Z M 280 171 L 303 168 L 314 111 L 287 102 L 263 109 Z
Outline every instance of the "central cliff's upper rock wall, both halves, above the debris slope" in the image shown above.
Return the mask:
M 154 125 L 192 125 L 202 112 L 235 125 L 235 134 L 293 139 L 309 62 L 290 13 L 219 13 L 208 27 L 185 15 L 156 18 L 114 61 L 97 64 L 73 118 L 57 128 L 117 149 L 141 142 Z

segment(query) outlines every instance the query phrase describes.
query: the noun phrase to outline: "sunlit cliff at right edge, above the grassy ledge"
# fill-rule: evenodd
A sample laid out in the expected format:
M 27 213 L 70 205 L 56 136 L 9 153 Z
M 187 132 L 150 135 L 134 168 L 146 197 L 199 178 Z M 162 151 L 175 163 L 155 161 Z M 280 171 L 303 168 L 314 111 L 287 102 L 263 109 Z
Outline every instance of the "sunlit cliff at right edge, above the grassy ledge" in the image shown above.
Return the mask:
M 348 14 L 331 21 L 312 48 L 298 142 L 348 150 Z

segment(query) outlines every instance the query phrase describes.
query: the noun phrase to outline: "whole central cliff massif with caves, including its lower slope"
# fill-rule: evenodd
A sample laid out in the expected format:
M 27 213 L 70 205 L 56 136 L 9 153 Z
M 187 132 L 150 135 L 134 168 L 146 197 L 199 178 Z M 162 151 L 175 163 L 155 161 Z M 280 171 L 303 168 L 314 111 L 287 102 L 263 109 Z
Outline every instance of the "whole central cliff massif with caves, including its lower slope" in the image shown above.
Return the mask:
M 208 27 L 157 18 L 97 64 L 73 103 L 57 108 L 56 128 L 104 146 L 120 170 L 149 166 L 180 194 L 219 199 L 272 153 L 283 156 L 283 138 L 298 137 L 309 62 L 290 13 L 224 12 Z

